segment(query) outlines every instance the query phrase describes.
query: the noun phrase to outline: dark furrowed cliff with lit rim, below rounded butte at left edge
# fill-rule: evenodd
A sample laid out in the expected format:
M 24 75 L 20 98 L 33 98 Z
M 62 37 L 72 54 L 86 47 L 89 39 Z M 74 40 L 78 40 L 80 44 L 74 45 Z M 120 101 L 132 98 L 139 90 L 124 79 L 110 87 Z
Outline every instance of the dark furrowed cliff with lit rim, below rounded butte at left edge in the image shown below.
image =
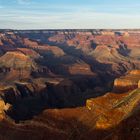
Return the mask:
M 3 86 L 0 96 L 6 103 L 14 104 L 18 100 L 41 96 L 45 83 L 15 82 L 13 86 Z

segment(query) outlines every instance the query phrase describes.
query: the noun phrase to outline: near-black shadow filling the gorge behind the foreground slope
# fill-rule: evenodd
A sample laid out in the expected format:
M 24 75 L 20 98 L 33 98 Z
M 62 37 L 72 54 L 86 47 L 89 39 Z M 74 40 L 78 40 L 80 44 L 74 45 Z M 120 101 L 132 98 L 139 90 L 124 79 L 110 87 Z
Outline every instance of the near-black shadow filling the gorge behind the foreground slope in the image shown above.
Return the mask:
M 45 109 L 82 107 L 85 106 L 87 99 L 102 96 L 111 88 L 109 86 L 101 91 L 95 91 L 93 87 L 103 88 L 103 85 L 97 79 L 87 76 L 64 79 L 56 85 L 47 82 L 45 84 L 46 87 L 39 93 L 19 85 L 16 87 L 19 96 L 15 96 L 14 91 L 6 91 L 3 99 L 12 105 L 6 112 L 7 115 L 18 123 L 32 119 Z

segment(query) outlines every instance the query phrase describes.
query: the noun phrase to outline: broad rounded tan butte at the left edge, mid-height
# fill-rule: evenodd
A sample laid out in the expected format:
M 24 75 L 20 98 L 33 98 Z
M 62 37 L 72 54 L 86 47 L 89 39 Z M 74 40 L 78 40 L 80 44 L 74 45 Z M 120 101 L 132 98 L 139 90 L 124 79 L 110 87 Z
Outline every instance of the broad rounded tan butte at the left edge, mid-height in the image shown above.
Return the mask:
M 12 83 L 15 80 L 29 79 L 31 72 L 37 69 L 32 58 L 19 52 L 8 51 L 0 57 L 1 82 Z

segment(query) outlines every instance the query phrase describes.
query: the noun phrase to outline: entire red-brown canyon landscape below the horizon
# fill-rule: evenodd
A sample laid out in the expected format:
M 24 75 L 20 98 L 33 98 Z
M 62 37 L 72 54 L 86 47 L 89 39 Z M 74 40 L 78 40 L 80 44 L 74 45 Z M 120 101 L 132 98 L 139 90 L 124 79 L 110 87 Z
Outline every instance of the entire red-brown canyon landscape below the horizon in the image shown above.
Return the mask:
M 139 140 L 140 30 L 0 30 L 0 140 Z

